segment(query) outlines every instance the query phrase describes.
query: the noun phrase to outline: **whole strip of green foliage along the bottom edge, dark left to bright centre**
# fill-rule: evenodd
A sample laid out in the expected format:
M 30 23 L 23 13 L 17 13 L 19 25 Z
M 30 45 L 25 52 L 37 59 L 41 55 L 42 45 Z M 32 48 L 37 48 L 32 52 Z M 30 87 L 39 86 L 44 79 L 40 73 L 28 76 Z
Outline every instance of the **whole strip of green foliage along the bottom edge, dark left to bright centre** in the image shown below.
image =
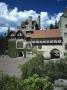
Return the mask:
M 3 75 L 0 77 L 0 90 L 53 90 L 53 85 L 37 74 L 24 80 Z

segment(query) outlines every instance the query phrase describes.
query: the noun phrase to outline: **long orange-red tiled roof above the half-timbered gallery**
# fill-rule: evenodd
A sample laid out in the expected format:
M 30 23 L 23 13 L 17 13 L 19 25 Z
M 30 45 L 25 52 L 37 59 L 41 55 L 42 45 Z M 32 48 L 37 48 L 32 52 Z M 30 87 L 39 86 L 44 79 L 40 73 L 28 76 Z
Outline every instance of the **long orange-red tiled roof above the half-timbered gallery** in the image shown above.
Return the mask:
M 35 30 L 32 34 L 32 38 L 58 38 L 61 37 L 59 29 L 51 30 Z

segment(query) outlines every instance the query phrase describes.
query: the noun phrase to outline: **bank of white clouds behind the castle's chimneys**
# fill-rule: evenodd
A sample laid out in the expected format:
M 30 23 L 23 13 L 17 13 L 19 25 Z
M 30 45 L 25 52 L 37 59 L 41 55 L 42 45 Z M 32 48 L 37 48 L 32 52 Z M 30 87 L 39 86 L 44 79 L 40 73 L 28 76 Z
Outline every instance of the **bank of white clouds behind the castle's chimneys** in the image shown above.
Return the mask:
M 19 26 L 22 21 L 25 21 L 29 16 L 32 16 L 33 20 L 36 20 L 38 13 L 34 10 L 18 11 L 17 7 L 13 9 L 8 8 L 6 3 L 0 2 L 0 32 L 5 32 L 8 26 L 15 28 Z M 40 12 L 41 15 L 41 27 L 45 28 L 51 23 L 54 24 L 55 20 L 59 21 L 61 12 L 49 15 L 48 12 Z

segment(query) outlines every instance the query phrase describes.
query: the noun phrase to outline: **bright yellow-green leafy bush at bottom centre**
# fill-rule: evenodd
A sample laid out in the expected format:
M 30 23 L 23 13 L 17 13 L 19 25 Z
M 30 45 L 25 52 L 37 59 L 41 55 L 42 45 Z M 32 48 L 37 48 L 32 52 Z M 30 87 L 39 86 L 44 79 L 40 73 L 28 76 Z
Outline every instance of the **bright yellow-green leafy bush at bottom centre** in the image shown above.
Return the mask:
M 37 74 L 23 80 L 20 87 L 20 90 L 53 90 L 52 84 L 47 78 L 39 77 Z

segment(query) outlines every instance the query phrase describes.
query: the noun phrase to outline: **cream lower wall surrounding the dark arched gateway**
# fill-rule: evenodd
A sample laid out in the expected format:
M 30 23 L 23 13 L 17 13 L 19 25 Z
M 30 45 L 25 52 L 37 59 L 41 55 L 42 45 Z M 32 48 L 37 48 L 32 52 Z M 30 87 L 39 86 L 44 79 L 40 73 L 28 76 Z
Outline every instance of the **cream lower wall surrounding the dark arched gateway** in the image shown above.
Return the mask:
M 58 49 L 60 51 L 60 57 L 63 58 L 63 48 L 62 48 L 62 45 L 42 45 L 42 49 L 38 49 L 38 46 L 37 46 L 37 50 L 38 51 L 42 51 L 44 57 L 46 57 L 46 58 L 47 57 L 48 58 L 51 57 L 50 52 L 53 49 Z

